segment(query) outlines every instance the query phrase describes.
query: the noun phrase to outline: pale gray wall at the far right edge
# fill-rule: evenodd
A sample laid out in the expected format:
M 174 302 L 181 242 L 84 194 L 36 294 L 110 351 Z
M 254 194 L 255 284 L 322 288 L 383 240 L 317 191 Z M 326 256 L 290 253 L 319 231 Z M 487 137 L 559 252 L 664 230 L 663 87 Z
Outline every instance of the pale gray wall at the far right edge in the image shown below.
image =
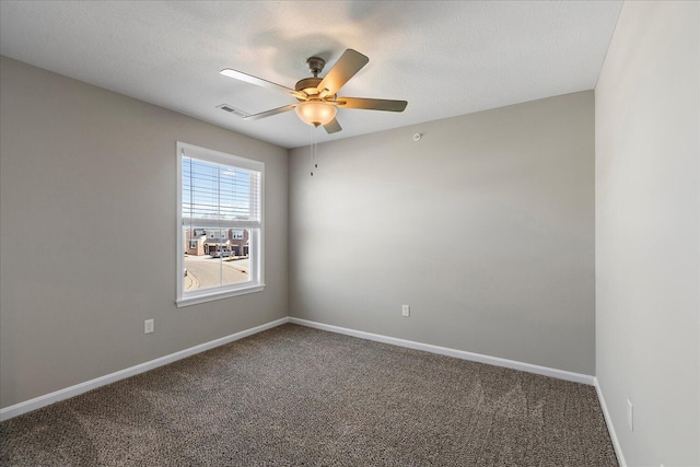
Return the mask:
M 596 369 L 631 466 L 700 465 L 699 5 L 626 2 L 595 91 Z

